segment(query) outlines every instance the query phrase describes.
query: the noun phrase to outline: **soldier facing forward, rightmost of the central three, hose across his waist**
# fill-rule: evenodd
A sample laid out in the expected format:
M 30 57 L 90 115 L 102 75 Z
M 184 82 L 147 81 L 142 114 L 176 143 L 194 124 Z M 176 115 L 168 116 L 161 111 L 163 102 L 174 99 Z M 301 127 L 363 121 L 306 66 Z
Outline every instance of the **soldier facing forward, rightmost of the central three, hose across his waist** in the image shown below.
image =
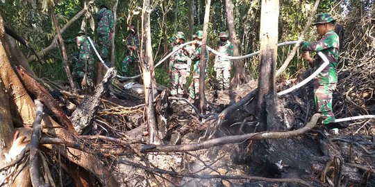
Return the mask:
M 220 32 L 220 44 L 217 46 L 217 51 L 227 56 L 233 56 L 233 44 L 228 41 L 228 34 Z M 225 57 L 216 56 L 214 70 L 216 71 L 216 79 L 219 81 L 219 87 L 223 90 L 229 89 L 229 82 L 231 78 L 232 61 Z

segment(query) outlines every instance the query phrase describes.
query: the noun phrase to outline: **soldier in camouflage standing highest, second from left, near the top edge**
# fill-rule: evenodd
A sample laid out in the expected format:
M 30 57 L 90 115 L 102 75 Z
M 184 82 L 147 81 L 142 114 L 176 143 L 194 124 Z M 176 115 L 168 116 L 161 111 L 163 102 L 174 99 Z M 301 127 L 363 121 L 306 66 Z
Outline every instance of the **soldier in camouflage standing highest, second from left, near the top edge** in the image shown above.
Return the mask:
M 99 54 L 101 58 L 106 62 L 106 65 L 110 67 L 108 61 L 110 42 L 113 37 L 113 14 L 112 11 L 108 10 L 108 7 L 101 4 L 99 12 L 97 12 L 97 34 L 99 39 Z

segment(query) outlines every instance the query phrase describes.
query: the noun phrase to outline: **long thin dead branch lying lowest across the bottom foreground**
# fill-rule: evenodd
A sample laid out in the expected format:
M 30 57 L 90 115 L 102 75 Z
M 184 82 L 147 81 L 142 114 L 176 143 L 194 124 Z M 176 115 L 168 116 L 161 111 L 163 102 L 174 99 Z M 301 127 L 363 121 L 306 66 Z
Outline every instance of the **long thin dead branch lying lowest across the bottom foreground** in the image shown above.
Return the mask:
M 143 166 L 139 163 L 134 163 L 131 161 L 121 160 L 119 163 L 123 163 L 126 165 L 134 166 L 137 168 L 142 168 L 142 170 L 147 170 L 149 172 L 158 172 L 172 176 L 178 177 L 191 177 L 195 179 L 248 179 L 253 181 L 269 181 L 274 183 L 281 183 L 281 182 L 288 182 L 288 183 L 297 183 L 302 184 L 304 186 L 312 186 L 307 181 L 303 181 L 302 179 L 273 179 L 273 178 L 266 178 L 266 177 L 252 177 L 247 175 L 234 175 L 234 176 L 227 176 L 227 175 L 200 175 L 196 173 L 182 173 L 182 172 L 174 172 L 169 170 L 163 170 L 160 168 L 149 168 L 147 166 Z

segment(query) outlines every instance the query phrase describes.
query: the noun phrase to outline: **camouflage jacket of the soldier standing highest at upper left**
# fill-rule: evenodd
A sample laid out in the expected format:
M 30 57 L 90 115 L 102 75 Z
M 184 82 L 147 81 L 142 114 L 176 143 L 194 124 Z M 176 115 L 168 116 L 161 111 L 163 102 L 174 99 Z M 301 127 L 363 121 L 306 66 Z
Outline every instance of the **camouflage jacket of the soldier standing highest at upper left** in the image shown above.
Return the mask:
M 98 33 L 113 33 L 113 14 L 110 10 L 102 8 L 97 13 Z

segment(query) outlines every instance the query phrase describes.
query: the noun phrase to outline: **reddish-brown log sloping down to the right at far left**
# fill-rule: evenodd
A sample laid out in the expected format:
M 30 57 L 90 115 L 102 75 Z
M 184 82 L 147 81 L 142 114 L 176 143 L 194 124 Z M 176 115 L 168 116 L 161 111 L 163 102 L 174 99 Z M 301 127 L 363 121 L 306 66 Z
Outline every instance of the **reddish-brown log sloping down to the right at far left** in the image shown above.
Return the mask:
M 34 80 L 24 69 L 17 68 L 17 73 L 19 78 L 21 78 L 24 83 L 25 89 L 28 91 L 28 94 L 31 94 L 33 98 L 40 100 L 44 105 L 46 105 L 54 116 L 56 116 L 58 122 L 63 125 L 69 132 L 72 134 L 77 134 L 74 130 L 72 122 L 67 118 L 67 115 L 61 109 L 61 107 L 56 103 L 56 100 L 49 94 L 49 91 L 45 89 L 42 84 Z

